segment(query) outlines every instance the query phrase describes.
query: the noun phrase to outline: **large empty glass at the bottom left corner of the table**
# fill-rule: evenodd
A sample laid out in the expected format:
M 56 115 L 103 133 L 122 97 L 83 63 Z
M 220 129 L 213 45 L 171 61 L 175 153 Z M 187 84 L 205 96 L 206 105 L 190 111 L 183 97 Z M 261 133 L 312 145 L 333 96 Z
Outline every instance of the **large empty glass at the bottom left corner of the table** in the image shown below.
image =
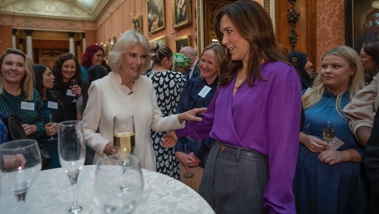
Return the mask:
M 4 183 L 11 187 L 22 212 L 31 184 L 41 171 L 41 154 L 34 139 L 19 139 L 0 145 L 0 169 Z

